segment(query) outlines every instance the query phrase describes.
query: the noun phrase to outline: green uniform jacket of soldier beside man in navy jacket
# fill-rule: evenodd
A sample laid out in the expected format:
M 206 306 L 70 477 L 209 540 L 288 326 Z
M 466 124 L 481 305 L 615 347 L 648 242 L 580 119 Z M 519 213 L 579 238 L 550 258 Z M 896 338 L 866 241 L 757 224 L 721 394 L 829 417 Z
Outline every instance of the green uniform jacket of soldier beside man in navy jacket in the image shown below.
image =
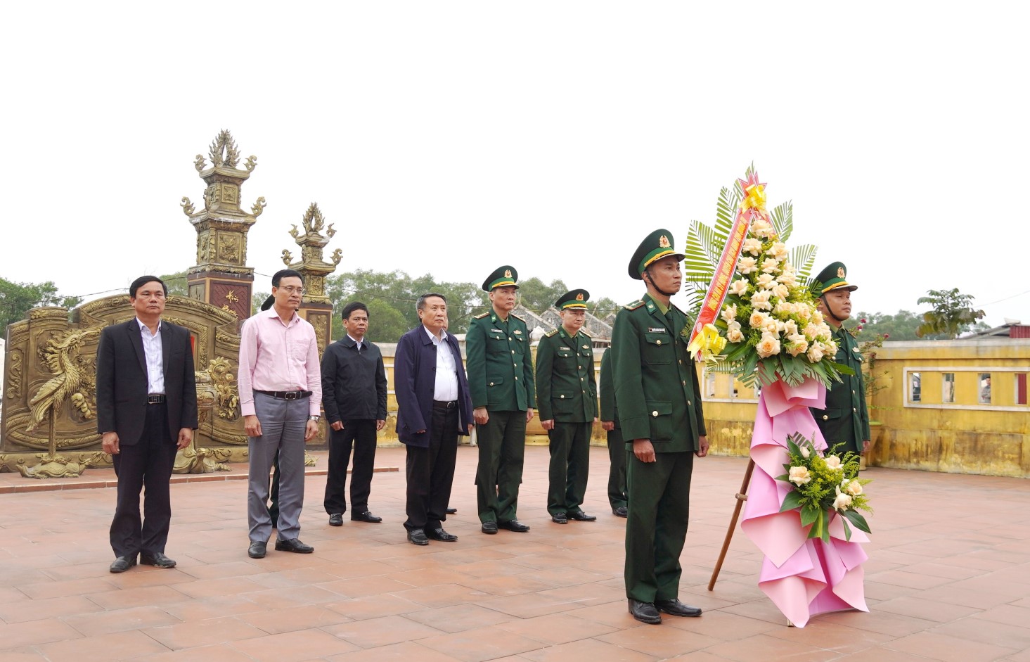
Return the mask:
M 506 323 L 493 310 L 476 316 L 465 336 L 465 353 L 473 407 L 536 407 L 529 333 L 521 318 L 509 315 Z

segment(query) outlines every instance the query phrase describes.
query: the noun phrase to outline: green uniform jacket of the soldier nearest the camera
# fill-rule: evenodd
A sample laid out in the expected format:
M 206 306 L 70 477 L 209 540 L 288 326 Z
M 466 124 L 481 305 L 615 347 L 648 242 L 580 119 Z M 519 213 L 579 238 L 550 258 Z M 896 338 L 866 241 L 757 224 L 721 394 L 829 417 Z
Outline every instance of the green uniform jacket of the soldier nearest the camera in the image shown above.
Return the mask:
M 612 382 L 627 448 L 650 439 L 655 453 L 698 451 L 707 434 L 700 386 L 675 305 L 670 322 L 648 295 L 623 306 L 612 331 Z

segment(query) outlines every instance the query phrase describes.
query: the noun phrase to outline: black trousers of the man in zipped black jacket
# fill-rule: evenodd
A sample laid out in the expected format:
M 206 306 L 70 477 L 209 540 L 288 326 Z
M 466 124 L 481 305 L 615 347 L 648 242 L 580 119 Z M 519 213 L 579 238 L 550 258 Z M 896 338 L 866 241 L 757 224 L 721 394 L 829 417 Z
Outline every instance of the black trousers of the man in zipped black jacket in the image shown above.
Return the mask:
M 347 511 L 344 488 L 351 446 L 354 449 L 354 468 L 350 474 L 350 505 L 353 512 L 365 512 L 369 509 L 372 471 L 376 463 L 376 422 L 370 419 L 344 421 L 342 430 L 330 430 L 329 475 L 325 476 L 325 498 L 322 501 L 325 512 Z

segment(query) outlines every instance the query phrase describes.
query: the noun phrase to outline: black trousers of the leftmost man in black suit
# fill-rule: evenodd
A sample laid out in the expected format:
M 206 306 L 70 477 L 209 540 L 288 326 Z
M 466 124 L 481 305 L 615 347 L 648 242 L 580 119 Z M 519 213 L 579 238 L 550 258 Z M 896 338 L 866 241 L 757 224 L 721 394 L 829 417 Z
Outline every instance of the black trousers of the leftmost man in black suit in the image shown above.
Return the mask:
M 143 435 L 131 445 L 121 443 L 112 456 L 118 477 L 117 504 L 111 521 L 111 549 L 114 556 L 135 559 L 140 552 L 165 552 L 172 505 L 168 485 L 178 446 L 168 438 L 168 407 L 148 404 Z M 143 517 L 139 514 L 139 493 L 146 488 Z

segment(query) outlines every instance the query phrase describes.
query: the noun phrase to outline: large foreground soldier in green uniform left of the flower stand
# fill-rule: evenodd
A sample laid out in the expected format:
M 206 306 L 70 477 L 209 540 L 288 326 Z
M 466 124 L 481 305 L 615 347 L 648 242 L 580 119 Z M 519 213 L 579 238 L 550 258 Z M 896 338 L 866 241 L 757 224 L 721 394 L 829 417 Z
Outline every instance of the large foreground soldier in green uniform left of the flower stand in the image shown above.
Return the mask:
M 686 315 L 673 305 L 680 291 L 683 254 L 673 234 L 655 230 L 629 262 L 629 275 L 647 294 L 623 306 L 612 331 L 612 382 L 626 439 L 626 597 L 643 623 L 659 611 L 700 616 L 677 599 L 680 553 L 690 517 L 694 456 L 708 455 L 700 388 L 687 353 Z

